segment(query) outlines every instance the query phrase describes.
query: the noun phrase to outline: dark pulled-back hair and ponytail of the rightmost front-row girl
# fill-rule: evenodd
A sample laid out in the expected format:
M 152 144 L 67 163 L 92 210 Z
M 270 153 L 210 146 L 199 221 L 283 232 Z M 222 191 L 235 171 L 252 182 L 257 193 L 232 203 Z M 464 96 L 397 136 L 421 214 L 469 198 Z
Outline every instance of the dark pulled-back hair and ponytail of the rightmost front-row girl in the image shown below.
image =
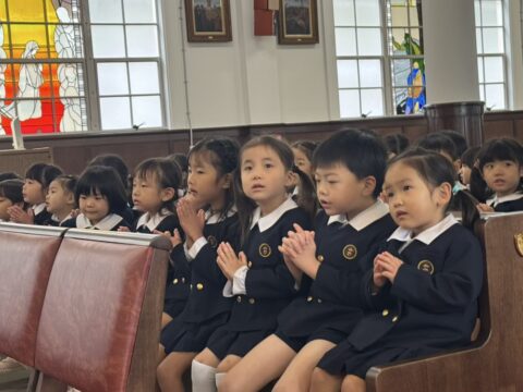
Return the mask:
M 439 152 L 423 148 L 409 149 L 392 158 L 389 162 L 389 169 L 394 163 L 400 162 L 414 169 L 430 188 L 448 183 L 452 189 L 454 185 L 457 176 L 454 167 Z M 473 230 L 474 223 L 479 219 L 479 212 L 470 195 L 465 192 L 458 192 L 455 195 L 452 195 L 450 203 L 446 206 L 446 211 L 451 206 L 457 206 L 461 209 L 462 224 Z

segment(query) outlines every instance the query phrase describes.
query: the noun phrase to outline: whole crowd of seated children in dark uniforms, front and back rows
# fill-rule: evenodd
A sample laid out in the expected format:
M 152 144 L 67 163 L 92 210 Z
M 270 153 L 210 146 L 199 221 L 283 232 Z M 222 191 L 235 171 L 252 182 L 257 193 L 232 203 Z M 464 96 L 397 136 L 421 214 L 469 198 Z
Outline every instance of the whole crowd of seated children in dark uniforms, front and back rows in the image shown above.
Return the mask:
M 187 371 L 200 392 L 365 391 L 373 366 L 471 343 L 472 228 L 523 210 L 522 169 L 516 140 L 469 148 L 453 131 L 412 147 L 358 130 L 214 137 L 131 175 L 113 155 L 78 177 L 1 173 L 0 221 L 170 238 L 161 391 L 183 391 Z

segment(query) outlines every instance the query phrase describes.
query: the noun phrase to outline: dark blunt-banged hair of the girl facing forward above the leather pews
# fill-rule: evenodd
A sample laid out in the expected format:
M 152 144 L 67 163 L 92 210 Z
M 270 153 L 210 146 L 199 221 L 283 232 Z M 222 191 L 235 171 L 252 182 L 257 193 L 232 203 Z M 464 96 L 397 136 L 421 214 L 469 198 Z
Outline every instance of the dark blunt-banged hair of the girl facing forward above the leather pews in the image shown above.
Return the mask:
M 107 198 L 109 213 L 122 215 L 127 207 L 125 188 L 113 168 L 90 166 L 78 179 L 74 200 L 80 205 L 81 195 L 100 195 Z

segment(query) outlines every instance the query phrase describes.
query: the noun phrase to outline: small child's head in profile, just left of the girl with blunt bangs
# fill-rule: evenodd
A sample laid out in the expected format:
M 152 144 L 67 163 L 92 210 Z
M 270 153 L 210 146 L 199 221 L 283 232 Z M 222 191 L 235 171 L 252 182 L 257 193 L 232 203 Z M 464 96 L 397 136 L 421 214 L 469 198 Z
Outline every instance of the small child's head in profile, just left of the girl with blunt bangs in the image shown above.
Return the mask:
M 47 191 L 47 211 L 52 213 L 50 224 L 61 225 L 73 217 L 77 208 L 74 200 L 74 189 L 78 179 L 74 175 L 59 175 L 49 185 Z

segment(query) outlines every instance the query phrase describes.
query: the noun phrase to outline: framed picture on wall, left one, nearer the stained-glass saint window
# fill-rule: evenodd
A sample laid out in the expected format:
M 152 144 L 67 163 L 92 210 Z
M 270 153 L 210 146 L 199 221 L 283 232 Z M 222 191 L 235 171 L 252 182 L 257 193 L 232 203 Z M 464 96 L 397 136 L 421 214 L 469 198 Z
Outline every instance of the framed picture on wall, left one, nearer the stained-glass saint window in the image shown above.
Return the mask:
M 185 17 L 190 42 L 232 40 L 229 0 L 185 0 Z

